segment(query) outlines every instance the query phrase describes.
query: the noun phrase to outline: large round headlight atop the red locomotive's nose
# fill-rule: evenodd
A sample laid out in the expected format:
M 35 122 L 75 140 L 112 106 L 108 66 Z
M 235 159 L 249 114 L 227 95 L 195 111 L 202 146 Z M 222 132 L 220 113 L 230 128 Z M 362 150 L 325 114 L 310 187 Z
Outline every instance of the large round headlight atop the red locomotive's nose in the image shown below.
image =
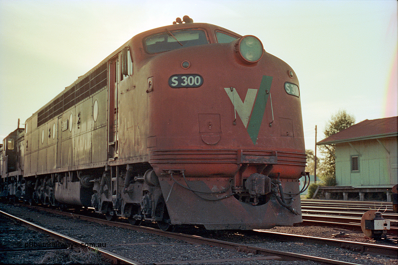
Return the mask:
M 246 62 L 258 62 L 263 56 L 264 48 L 261 41 L 252 35 L 246 35 L 239 39 L 237 51 Z

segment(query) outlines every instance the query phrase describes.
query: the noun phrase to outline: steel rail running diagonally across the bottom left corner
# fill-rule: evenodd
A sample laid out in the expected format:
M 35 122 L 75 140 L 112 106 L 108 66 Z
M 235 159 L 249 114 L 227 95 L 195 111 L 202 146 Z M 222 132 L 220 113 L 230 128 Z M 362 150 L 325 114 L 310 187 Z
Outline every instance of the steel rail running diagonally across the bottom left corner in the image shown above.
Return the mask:
M 82 242 L 80 240 L 71 238 L 69 236 L 60 234 L 58 232 L 55 232 L 53 230 L 47 229 L 43 226 L 39 226 L 37 224 L 34 224 L 32 222 L 29 222 L 27 220 L 23 220 L 22 218 L 19 218 L 17 216 L 14 216 L 12 214 L 9 214 L 7 212 L 4 212 L 2 210 L 0 210 L 0 214 L 6 216 L 7 218 L 10 218 L 14 221 L 20 222 L 23 226 L 26 226 L 27 228 L 34 230 L 36 232 L 42 233 L 42 234 L 46 234 L 48 236 L 50 236 L 51 238 L 54 238 L 55 240 L 58 240 L 59 242 L 63 242 L 63 243 L 68 243 L 69 246 L 73 246 L 73 247 L 78 247 L 84 251 L 87 251 L 88 249 L 92 250 L 92 251 L 98 251 L 99 253 L 101 253 L 101 255 L 103 257 L 106 257 L 107 259 L 110 259 L 112 261 L 113 264 L 133 264 L 133 265 L 142 265 L 141 263 L 137 262 L 137 261 L 133 261 L 131 259 L 128 259 L 126 257 L 122 257 L 120 255 L 117 255 L 115 253 L 109 252 L 105 249 L 101 249 L 99 247 L 91 247 L 89 246 L 90 244 L 86 244 L 85 242 Z

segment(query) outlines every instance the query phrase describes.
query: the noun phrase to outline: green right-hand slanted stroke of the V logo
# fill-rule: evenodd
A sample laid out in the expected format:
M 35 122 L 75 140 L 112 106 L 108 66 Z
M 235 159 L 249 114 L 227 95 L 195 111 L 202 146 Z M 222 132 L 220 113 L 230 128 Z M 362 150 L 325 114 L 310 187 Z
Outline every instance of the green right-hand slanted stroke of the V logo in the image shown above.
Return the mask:
M 263 76 L 261 79 L 260 88 L 258 90 L 257 98 L 254 103 L 252 116 L 247 127 L 250 138 L 253 144 L 256 144 L 258 133 L 260 131 L 261 122 L 263 121 L 265 106 L 267 105 L 268 96 L 265 91 L 271 90 L 272 76 Z

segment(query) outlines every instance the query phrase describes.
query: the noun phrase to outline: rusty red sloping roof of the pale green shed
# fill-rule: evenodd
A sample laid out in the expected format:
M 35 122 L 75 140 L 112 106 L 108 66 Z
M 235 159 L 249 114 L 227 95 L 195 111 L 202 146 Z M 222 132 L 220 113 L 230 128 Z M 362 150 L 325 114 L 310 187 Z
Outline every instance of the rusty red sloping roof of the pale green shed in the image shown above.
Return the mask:
M 386 138 L 398 135 L 398 117 L 365 120 L 348 127 L 326 139 L 317 142 L 322 144 L 338 144 L 368 139 Z

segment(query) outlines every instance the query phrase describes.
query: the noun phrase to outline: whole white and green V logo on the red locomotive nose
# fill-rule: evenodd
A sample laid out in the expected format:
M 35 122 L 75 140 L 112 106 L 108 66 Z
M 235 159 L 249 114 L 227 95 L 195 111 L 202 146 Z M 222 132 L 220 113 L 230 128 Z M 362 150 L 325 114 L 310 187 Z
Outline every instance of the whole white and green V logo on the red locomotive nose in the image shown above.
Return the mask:
M 259 89 L 249 88 L 243 101 L 234 88 L 232 90 L 231 88 L 224 88 L 243 125 L 246 127 L 253 144 L 257 142 L 265 106 L 268 101 L 269 94 L 265 91 L 270 91 L 271 84 L 272 76 L 263 76 Z

